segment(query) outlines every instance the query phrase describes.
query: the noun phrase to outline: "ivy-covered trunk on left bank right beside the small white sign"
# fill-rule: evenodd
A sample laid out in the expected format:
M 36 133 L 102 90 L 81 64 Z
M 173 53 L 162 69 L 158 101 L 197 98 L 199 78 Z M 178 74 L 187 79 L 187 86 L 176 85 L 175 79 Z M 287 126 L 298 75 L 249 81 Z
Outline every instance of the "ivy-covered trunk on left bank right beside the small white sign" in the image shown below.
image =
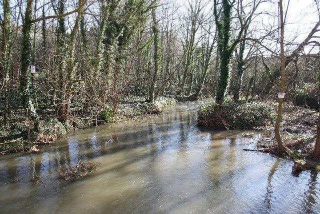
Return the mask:
M 32 0 L 27 0 L 25 14 L 22 24 L 22 44 L 21 44 L 21 56 L 20 56 L 20 95 L 21 104 L 24 110 L 30 114 L 32 119 L 37 120 L 30 95 L 30 63 L 31 63 L 31 28 L 32 28 Z

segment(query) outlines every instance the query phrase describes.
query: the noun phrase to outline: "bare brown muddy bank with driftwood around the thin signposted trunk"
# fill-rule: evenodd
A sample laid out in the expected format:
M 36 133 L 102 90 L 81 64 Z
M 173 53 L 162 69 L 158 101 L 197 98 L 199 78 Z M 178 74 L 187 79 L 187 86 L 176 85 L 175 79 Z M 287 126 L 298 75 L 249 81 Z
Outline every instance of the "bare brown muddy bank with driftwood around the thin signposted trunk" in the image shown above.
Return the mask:
M 283 105 L 280 135 L 282 143 L 291 152 L 281 153 L 273 134 L 272 125 L 258 129 L 270 130 L 269 137 L 262 137 L 255 142 L 255 150 L 276 155 L 280 158 L 292 159 L 292 173 L 299 174 L 302 170 L 320 170 L 320 161 L 312 157 L 316 138 L 318 112 L 285 102 Z M 246 150 L 246 149 L 244 149 Z

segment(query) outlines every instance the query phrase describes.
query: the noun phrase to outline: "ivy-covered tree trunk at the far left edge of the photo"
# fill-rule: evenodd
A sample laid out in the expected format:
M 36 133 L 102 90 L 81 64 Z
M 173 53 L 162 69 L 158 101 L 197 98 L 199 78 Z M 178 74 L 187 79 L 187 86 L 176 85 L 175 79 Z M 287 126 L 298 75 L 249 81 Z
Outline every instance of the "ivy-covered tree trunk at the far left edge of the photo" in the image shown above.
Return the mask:
M 1 25 L 2 30 L 2 53 L 1 53 L 1 75 L 3 76 L 3 88 L 4 88 L 4 112 L 3 121 L 5 122 L 11 111 L 11 89 L 10 83 L 12 81 L 12 34 L 11 34 L 11 21 L 10 21 L 10 1 L 2 0 L 3 20 Z

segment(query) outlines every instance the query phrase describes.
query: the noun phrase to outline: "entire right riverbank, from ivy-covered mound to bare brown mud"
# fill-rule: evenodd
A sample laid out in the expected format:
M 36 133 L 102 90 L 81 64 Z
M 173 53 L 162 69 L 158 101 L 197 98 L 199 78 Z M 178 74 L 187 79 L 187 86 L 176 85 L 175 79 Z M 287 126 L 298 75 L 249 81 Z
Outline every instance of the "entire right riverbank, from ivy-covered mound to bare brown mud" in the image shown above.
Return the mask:
M 270 100 L 253 100 L 248 103 L 245 101 L 234 103 L 229 100 L 224 104 L 222 120 L 217 122 L 217 118 L 214 117 L 214 101 L 212 101 L 200 107 L 197 123 L 211 128 L 273 130 L 277 105 L 276 101 Z M 298 171 L 320 170 L 319 160 L 311 157 L 316 138 L 318 114 L 315 110 L 284 102 L 280 135 L 282 143 L 292 152 L 288 154 L 279 151 L 273 132 L 268 137 L 255 139 L 254 148 L 244 148 L 244 150 L 271 153 L 280 158 L 292 159 Z

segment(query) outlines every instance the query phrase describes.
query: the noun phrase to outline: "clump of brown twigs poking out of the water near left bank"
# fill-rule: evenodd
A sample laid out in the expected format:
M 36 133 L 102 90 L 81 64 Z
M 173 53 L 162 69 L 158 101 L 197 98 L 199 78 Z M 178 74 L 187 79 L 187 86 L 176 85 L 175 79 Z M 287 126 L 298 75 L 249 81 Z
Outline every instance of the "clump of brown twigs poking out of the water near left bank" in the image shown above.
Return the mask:
M 99 163 L 83 163 L 81 160 L 74 167 L 68 167 L 64 172 L 59 174 L 59 178 L 64 180 L 76 180 L 88 175 L 99 167 Z

